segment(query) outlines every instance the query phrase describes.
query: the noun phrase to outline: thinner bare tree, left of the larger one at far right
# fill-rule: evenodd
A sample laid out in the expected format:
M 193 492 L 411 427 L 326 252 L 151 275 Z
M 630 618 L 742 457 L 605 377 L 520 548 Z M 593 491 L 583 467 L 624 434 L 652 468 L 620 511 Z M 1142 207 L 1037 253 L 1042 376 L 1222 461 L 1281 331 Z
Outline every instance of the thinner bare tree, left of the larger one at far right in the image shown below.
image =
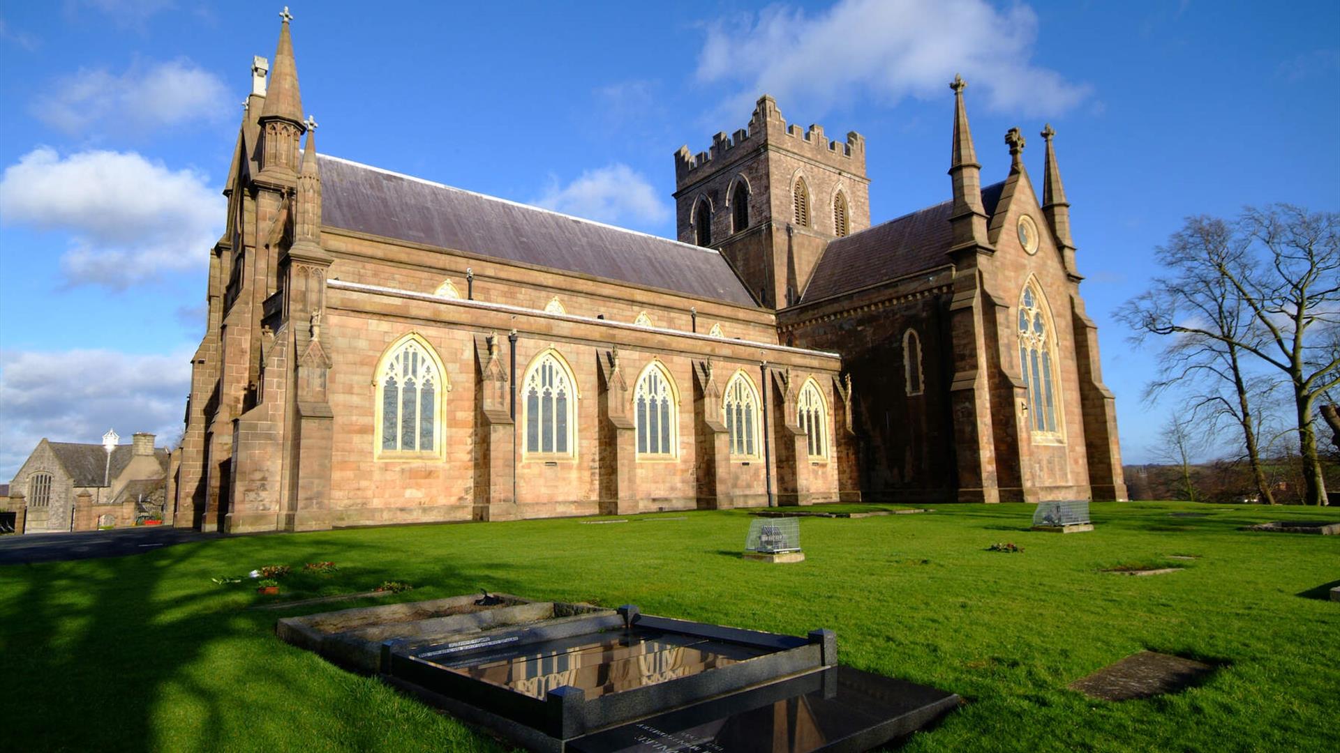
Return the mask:
M 1238 253 L 1233 229 L 1214 217 L 1189 217 L 1166 247 L 1156 249 L 1159 264 L 1172 272 L 1152 280 L 1150 291 L 1118 310 L 1131 327 L 1131 340 L 1148 335 L 1175 335 L 1159 354 L 1159 374 L 1146 387 L 1144 399 L 1156 401 L 1170 389 L 1185 389 L 1190 413 L 1210 433 L 1231 421 L 1242 434 L 1252 478 L 1262 502 L 1274 504 L 1261 468 L 1253 393 L 1273 385 L 1252 379 L 1242 366 L 1240 342 L 1252 336 L 1252 311 L 1242 295 L 1219 275 L 1217 261 Z M 1179 318 L 1197 322 L 1205 332 L 1177 331 Z

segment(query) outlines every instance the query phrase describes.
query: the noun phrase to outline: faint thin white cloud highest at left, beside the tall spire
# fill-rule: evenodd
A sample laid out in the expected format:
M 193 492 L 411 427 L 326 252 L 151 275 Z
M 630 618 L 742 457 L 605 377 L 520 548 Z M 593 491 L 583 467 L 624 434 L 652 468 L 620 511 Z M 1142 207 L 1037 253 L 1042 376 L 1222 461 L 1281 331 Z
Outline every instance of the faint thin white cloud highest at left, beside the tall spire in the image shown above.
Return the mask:
M 233 113 L 228 87 L 190 60 L 145 66 L 123 74 L 80 68 L 56 80 L 31 106 L 32 115 L 71 135 L 137 134 Z

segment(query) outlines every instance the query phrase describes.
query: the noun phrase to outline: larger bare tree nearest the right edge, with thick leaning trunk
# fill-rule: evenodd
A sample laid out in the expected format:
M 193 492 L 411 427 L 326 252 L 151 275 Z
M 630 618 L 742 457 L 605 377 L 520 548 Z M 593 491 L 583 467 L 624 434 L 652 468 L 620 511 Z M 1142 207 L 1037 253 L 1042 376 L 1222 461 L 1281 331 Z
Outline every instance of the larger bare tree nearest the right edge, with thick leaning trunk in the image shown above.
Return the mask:
M 1183 233 L 1194 237 L 1198 225 L 1215 222 L 1189 218 L 1172 245 Z M 1136 328 L 1191 342 L 1214 340 L 1284 372 L 1297 422 L 1304 501 L 1328 504 L 1313 407 L 1320 395 L 1340 385 L 1340 355 L 1328 350 L 1340 324 L 1340 214 L 1309 213 L 1285 204 L 1248 208 L 1225 243 L 1191 245 L 1189 251 L 1195 255 L 1160 257 L 1177 276 L 1156 280 L 1154 289 L 1131 301 Z M 1195 291 L 1215 279 L 1245 307 L 1246 328 L 1223 331 L 1182 295 L 1183 288 Z

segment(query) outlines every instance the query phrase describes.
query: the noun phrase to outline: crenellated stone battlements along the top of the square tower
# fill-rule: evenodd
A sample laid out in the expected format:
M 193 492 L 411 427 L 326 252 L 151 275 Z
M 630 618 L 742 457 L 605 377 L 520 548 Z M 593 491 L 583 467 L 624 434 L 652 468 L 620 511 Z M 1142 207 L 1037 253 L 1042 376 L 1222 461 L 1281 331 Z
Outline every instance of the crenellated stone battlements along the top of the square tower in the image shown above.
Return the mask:
M 675 184 L 682 188 L 699 180 L 734 154 L 744 154 L 764 145 L 772 145 L 803 157 L 819 161 L 839 170 L 866 174 L 866 137 L 856 131 L 847 133 L 847 141 L 829 141 L 824 127 L 811 123 L 805 130 L 797 125 L 787 125 L 777 109 L 777 100 L 762 95 L 754 105 L 749 127 L 730 135 L 725 131 L 712 137 L 712 147 L 693 154 L 689 146 L 675 151 Z

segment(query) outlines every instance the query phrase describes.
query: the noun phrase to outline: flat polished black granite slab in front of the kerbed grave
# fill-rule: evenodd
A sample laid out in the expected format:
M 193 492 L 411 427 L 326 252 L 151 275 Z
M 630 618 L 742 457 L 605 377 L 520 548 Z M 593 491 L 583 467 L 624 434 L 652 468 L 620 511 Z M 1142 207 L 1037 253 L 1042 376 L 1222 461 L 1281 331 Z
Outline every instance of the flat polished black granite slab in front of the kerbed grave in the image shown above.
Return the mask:
M 911 734 L 958 695 L 851 667 L 829 667 L 716 698 L 567 744 L 574 753 L 846 753 Z

